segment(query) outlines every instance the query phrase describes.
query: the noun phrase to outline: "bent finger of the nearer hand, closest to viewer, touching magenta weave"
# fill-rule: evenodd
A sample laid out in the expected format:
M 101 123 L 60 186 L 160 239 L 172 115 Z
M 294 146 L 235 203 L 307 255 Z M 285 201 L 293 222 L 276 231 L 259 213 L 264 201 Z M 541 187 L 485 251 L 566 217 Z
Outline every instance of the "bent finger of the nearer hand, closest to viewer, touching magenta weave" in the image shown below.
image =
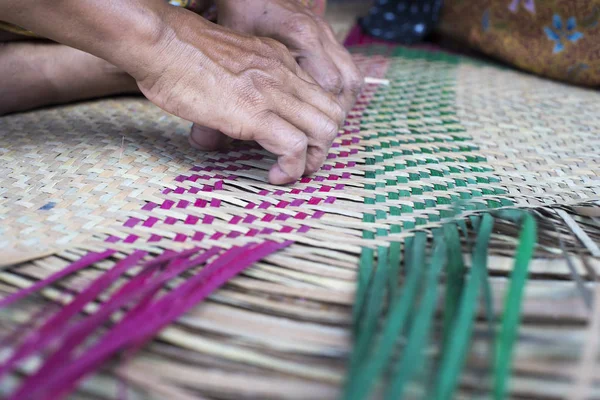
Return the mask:
M 300 179 L 306 168 L 306 135 L 272 112 L 259 116 L 257 122 L 252 138 L 277 156 L 269 171 L 269 182 L 284 185 Z

